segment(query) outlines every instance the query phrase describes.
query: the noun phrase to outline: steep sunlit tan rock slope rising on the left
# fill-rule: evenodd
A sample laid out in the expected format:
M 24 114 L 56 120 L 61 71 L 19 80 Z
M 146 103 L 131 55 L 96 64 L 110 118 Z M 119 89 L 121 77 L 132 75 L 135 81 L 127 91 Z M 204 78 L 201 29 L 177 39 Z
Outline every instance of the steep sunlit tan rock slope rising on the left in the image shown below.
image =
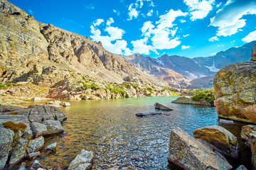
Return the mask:
M 106 82 L 136 77 L 141 83 L 160 84 L 129 60 L 105 50 L 101 42 L 38 23 L 6 0 L 0 1 L 0 12 L 1 81 L 53 86 L 74 72 Z

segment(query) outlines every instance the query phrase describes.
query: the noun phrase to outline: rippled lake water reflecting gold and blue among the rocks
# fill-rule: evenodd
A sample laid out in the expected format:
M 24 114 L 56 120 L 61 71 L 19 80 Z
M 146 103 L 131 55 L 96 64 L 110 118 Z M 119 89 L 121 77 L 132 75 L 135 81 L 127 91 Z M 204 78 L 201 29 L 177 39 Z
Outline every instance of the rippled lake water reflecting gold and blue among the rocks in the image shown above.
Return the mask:
M 180 127 L 193 135 L 193 130 L 218 125 L 215 108 L 174 104 L 176 97 L 122 98 L 99 101 L 70 101 L 62 108 L 68 116 L 61 137 L 48 137 L 58 142 L 57 151 L 39 157 L 44 167 L 59 164 L 67 168 L 80 149 L 95 154 L 92 169 L 172 169 L 168 164 L 169 135 Z M 136 113 L 155 112 L 154 103 L 174 109 L 171 115 L 137 117 Z M 232 128 L 231 128 L 232 129 Z

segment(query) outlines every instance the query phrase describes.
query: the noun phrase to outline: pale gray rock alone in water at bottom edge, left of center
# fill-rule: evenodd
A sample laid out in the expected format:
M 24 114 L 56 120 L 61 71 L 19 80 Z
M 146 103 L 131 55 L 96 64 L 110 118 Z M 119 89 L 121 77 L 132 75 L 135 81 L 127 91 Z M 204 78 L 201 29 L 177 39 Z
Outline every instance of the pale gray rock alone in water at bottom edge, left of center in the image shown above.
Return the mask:
M 68 166 L 69 170 L 87 170 L 92 168 L 93 152 L 82 149 Z

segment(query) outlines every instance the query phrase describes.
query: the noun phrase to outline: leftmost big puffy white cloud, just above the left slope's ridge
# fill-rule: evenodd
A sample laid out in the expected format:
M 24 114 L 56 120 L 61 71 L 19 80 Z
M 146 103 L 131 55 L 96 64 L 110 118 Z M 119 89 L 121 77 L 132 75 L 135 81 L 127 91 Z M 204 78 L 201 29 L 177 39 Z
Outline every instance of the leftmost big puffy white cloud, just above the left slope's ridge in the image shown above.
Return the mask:
M 110 26 L 111 23 L 114 23 L 114 20 L 110 18 L 107 21 L 107 28 L 104 30 L 108 35 L 104 36 L 101 31 L 96 28 L 96 26 L 99 26 L 102 22 L 104 21 L 98 19 L 92 23 L 92 26 L 90 26 L 92 35 L 90 35 L 90 38 L 95 41 L 101 41 L 103 47 L 110 52 L 119 55 L 132 55 L 132 51 L 127 48 L 127 41 L 122 40 L 124 30 Z

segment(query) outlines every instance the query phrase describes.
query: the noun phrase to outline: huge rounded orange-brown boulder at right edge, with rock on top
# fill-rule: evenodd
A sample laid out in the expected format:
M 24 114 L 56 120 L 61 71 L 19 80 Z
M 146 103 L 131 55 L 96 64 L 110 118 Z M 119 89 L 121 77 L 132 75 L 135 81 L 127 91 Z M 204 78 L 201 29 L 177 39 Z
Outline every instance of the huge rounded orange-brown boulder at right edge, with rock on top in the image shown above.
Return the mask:
M 220 117 L 256 123 L 256 45 L 252 62 L 230 64 L 215 75 L 215 104 Z

